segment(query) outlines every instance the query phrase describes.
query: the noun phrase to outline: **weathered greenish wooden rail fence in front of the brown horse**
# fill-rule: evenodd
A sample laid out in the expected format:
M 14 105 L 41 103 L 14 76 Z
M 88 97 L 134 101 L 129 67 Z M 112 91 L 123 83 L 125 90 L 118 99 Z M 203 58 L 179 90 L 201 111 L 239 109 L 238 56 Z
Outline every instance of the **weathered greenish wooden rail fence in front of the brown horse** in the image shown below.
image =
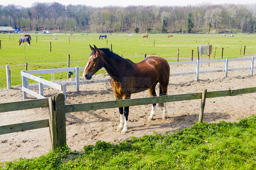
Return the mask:
M 25 122 L 25 123 L 17 123 L 17 124 L 11 124 L 11 125 L 2 125 L 0 126 L 0 134 L 9 134 L 14 132 L 49 127 L 50 149 L 53 150 L 54 148 L 66 143 L 65 113 L 201 99 L 201 107 L 200 107 L 198 120 L 199 122 L 202 122 L 206 98 L 236 96 L 240 94 L 255 93 L 255 92 L 256 92 L 256 87 L 243 88 L 243 89 L 237 89 L 237 90 L 211 91 L 211 92 L 207 92 L 207 90 L 204 89 L 203 92 L 201 93 L 189 93 L 189 94 L 179 94 L 179 95 L 156 96 L 156 97 L 135 98 L 135 99 L 125 99 L 125 100 L 115 100 L 115 101 L 101 101 L 101 102 L 81 103 L 81 104 L 67 104 L 67 105 L 65 105 L 64 94 L 59 93 L 49 98 L 1 103 L 0 112 L 10 112 L 10 111 L 16 111 L 16 110 L 48 107 L 49 119 L 37 120 L 37 121 L 31 121 L 31 122 Z

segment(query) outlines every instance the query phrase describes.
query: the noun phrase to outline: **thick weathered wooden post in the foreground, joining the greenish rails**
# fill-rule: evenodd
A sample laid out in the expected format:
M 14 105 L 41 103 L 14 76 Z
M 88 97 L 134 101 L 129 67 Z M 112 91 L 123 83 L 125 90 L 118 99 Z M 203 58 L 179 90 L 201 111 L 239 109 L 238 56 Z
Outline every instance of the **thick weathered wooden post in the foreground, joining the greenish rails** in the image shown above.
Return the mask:
M 50 149 L 66 144 L 65 96 L 62 93 L 49 97 Z

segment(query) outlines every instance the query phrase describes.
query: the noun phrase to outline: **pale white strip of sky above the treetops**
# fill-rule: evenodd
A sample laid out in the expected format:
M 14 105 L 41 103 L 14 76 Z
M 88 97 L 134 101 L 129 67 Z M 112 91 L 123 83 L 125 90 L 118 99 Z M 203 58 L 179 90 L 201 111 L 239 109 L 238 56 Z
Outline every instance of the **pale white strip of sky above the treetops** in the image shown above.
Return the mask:
M 252 0 L 182 0 L 182 1 L 170 1 L 170 0 L 147 0 L 147 1 L 138 1 L 138 0 L 12 0 L 12 1 L 6 1 L 1 0 L 0 5 L 7 6 L 8 4 L 15 4 L 15 5 L 21 5 L 22 7 L 31 7 L 31 5 L 35 2 L 59 2 L 63 5 L 87 5 L 87 6 L 93 6 L 93 7 L 106 7 L 106 6 L 121 6 L 121 7 L 127 7 L 129 5 L 143 5 L 143 6 L 151 6 L 151 5 L 157 5 L 157 6 L 187 6 L 187 5 L 197 5 L 202 3 L 211 3 L 211 4 L 251 4 Z M 167 2 L 167 3 L 166 3 Z M 182 2 L 182 3 L 181 3 Z

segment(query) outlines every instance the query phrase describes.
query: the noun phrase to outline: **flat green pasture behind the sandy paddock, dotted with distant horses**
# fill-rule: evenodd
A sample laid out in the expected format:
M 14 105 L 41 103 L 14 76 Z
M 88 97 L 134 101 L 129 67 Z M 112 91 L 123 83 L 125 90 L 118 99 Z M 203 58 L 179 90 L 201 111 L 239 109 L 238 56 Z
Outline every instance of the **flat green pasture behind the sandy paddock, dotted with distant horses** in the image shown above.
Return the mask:
M 1 65 L 0 88 L 7 88 L 5 65 L 10 65 L 11 86 L 21 84 L 21 70 L 25 70 L 24 63 L 28 63 L 28 70 L 52 69 L 67 67 L 68 54 L 70 54 L 70 67 L 85 67 L 91 53 L 89 45 L 98 48 L 108 47 L 118 55 L 123 55 L 133 62 L 139 62 L 147 54 L 160 56 L 168 62 L 177 61 L 177 49 L 179 49 L 179 61 L 197 59 L 197 47 L 200 45 L 213 45 L 210 57 L 220 59 L 222 48 L 223 58 L 243 57 L 253 55 L 256 52 L 256 35 L 237 34 L 234 37 L 222 37 L 222 34 L 173 34 L 173 38 L 167 38 L 168 34 L 149 34 L 143 39 L 143 34 L 107 34 L 107 39 L 100 39 L 100 34 L 81 35 L 81 33 L 69 34 L 30 34 L 31 45 L 19 46 L 18 40 L 23 34 L 0 34 L 1 40 Z M 56 38 L 57 40 L 55 40 Z M 51 46 L 50 46 L 51 45 Z M 240 50 L 242 46 L 242 52 Z M 200 54 L 199 54 L 200 55 Z M 201 55 L 200 55 L 201 58 Z M 204 56 L 203 59 L 207 59 Z M 104 73 L 100 70 L 98 73 Z M 39 76 L 39 75 L 37 75 Z M 43 74 L 43 79 L 51 80 L 51 74 Z M 55 74 L 55 80 L 66 79 L 66 73 Z M 32 80 L 29 83 L 33 83 Z

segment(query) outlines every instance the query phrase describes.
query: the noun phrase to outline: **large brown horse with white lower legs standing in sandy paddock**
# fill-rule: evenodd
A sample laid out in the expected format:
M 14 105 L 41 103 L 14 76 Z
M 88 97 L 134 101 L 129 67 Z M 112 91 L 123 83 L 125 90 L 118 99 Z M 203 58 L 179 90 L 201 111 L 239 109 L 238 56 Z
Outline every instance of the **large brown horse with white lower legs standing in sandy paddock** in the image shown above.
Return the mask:
M 156 96 L 155 87 L 160 84 L 159 95 L 167 95 L 167 86 L 169 83 L 170 66 L 168 62 L 160 57 L 147 57 L 139 63 L 122 58 L 113 53 L 109 48 L 94 48 L 92 50 L 88 63 L 85 66 L 83 77 L 90 80 L 99 69 L 104 67 L 110 75 L 110 85 L 114 91 L 117 100 L 131 98 L 132 93 L 138 93 L 149 90 L 150 96 Z M 166 103 L 160 106 L 163 108 L 162 119 L 167 119 Z M 154 120 L 156 104 L 152 104 L 152 111 L 148 120 Z M 128 132 L 129 107 L 119 107 L 120 124 L 117 131 L 122 134 Z

